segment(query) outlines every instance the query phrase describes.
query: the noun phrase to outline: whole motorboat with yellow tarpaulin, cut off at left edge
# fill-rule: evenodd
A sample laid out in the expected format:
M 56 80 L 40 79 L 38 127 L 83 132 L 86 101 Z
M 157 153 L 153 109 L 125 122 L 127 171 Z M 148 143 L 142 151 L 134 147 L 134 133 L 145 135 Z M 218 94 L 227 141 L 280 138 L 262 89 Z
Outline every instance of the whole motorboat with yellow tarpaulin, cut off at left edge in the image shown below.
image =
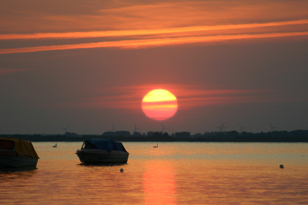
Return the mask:
M 38 159 L 31 141 L 0 137 L 0 168 L 34 168 Z

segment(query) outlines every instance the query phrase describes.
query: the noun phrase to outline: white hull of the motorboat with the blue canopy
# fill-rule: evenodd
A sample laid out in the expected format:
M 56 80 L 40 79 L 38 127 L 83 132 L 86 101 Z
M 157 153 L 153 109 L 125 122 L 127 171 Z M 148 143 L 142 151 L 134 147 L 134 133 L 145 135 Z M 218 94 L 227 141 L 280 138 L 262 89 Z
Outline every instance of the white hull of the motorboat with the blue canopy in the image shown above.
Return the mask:
M 81 149 L 76 152 L 79 160 L 83 164 L 98 164 L 98 163 L 127 163 L 128 152 L 99 149 Z

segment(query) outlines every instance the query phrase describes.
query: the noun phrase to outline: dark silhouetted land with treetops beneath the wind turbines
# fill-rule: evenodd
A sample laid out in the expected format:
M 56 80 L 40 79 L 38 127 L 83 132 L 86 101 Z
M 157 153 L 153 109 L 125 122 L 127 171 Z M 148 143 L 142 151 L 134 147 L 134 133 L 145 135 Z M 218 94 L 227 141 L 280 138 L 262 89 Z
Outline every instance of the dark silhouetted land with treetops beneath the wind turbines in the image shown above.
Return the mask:
M 273 131 L 273 132 L 205 132 L 191 135 L 190 132 L 148 132 L 147 134 L 128 131 L 104 132 L 102 135 L 82 135 L 67 132 L 65 135 L 0 135 L 0 137 L 13 137 L 32 142 L 78 142 L 90 138 L 111 138 L 124 142 L 308 142 L 308 130 Z

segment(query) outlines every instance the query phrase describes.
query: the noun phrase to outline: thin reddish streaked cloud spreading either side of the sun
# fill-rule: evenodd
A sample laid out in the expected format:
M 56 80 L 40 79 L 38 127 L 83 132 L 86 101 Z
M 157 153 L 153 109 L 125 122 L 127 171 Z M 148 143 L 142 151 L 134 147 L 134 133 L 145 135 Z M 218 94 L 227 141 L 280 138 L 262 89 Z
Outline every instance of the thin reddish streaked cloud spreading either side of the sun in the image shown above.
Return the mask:
M 264 89 L 202 89 L 196 85 L 140 85 L 125 88 L 113 87 L 108 89 L 110 93 L 105 96 L 91 97 L 76 103 L 54 104 L 54 106 L 140 110 L 142 98 L 151 87 L 170 91 L 176 96 L 179 109 L 182 110 L 218 104 L 261 103 L 269 99 L 275 101 L 272 91 Z

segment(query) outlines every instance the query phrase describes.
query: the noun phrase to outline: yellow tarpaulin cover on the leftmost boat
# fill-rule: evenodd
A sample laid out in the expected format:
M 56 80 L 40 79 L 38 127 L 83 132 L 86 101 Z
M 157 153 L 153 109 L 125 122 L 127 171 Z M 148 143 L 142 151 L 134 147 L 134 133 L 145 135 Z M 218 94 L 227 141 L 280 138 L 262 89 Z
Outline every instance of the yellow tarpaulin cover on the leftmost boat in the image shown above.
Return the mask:
M 31 141 L 10 137 L 0 137 L 0 140 L 14 141 L 15 151 L 19 156 L 28 155 L 31 157 L 39 158 L 38 154 L 34 150 Z

